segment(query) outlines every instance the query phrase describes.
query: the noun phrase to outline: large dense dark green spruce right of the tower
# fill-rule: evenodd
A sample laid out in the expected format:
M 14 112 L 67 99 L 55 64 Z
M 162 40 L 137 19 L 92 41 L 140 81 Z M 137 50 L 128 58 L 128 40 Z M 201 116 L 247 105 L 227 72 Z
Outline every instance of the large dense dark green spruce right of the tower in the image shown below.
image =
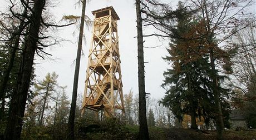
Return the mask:
M 168 48 L 169 56 L 163 58 L 172 64 L 172 68 L 164 72 L 165 79 L 162 87 L 166 89 L 166 96 L 161 103 L 169 107 L 180 121 L 184 114 L 189 114 L 194 122 L 195 117 L 204 117 L 207 125 L 211 119 L 216 119 L 218 112 L 214 100 L 213 76 L 215 75 L 218 78 L 216 88 L 221 94 L 224 119 L 228 120 L 229 89 L 220 86 L 226 77 L 211 68 L 211 62 L 209 62 L 211 46 L 200 34 L 204 32 L 205 24 L 200 17 L 196 16 L 196 13 L 188 12 L 181 2 L 178 7 L 177 28 L 174 29 L 174 38 L 171 39 Z M 211 39 L 213 38 L 211 36 Z M 218 47 L 215 49 L 214 52 L 223 52 Z M 227 59 L 226 69 L 229 69 L 231 63 L 228 63 L 229 58 L 225 59 Z M 231 71 L 229 69 L 229 72 Z M 225 122 L 228 126 L 228 121 Z M 192 127 L 196 128 L 195 123 Z

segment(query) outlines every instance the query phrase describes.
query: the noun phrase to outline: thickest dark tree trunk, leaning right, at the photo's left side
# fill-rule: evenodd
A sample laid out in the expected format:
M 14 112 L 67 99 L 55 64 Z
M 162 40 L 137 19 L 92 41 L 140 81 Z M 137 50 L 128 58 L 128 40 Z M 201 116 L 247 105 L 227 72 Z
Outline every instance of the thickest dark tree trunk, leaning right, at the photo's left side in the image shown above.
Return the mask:
M 7 128 L 4 132 L 4 139 L 20 139 L 21 137 L 22 121 L 33 68 L 33 59 L 37 47 L 38 33 L 41 26 L 42 10 L 45 7 L 45 0 L 35 0 L 34 2 L 31 24 L 27 40 L 24 43 L 26 49 L 24 49 L 23 52 L 23 62 L 17 92 L 14 92 L 12 95 Z

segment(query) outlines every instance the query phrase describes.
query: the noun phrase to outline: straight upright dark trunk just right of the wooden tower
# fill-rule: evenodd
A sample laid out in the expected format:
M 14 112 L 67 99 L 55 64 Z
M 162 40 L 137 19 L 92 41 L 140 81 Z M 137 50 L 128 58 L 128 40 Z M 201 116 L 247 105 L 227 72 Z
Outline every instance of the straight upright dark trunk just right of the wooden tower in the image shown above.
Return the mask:
M 139 139 L 149 139 L 149 130 L 147 128 L 147 118 L 146 118 L 144 51 L 143 51 L 143 33 L 142 33 L 140 0 L 136 0 L 136 15 L 137 15 L 138 79 L 139 79 L 139 123 L 140 123 Z

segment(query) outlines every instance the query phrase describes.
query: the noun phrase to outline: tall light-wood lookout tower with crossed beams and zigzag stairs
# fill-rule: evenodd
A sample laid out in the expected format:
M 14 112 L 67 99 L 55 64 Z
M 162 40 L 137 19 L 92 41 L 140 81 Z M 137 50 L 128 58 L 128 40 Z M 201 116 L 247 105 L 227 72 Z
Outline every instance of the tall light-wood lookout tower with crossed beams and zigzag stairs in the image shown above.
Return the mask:
M 115 109 L 124 113 L 122 76 L 120 68 L 117 16 L 114 8 L 106 7 L 92 11 L 94 15 L 92 42 L 88 54 L 85 93 L 82 113 L 85 108 L 105 116 L 115 116 Z

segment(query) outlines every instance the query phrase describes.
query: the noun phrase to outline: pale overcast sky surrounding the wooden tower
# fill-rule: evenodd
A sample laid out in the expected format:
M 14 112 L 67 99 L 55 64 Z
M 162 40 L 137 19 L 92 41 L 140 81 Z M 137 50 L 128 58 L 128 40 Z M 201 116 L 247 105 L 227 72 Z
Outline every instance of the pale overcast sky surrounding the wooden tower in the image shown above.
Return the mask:
M 6 0 L 0 1 L 0 10 L 3 10 L 8 6 Z M 76 1 L 62 0 L 56 7 L 50 8 L 53 12 L 56 21 L 60 21 L 63 15 L 81 15 L 81 8 L 75 7 Z M 87 3 L 86 15 L 93 19 L 91 11 L 96 9 L 104 8 L 107 6 L 113 6 L 116 13 L 120 17 L 120 21 L 117 22 L 119 29 L 119 47 L 121 55 L 121 73 L 123 82 L 124 94 L 128 93 L 132 88 L 134 95 L 138 93 L 137 86 L 137 39 L 136 36 L 136 13 L 135 13 L 135 1 L 133 0 L 91 0 Z M 73 75 L 75 71 L 76 52 L 77 52 L 77 36 L 78 33 L 72 35 L 75 31 L 75 26 L 70 26 L 60 29 L 60 37 L 70 39 L 71 42 L 62 42 L 60 46 L 51 47 L 45 51 L 51 53 L 55 61 L 50 59 L 42 60 L 36 57 L 36 79 L 43 79 L 48 72 L 55 71 L 58 77 L 58 83 L 61 86 L 67 86 L 67 94 L 71 98 L 72 96 L 72 85 Z M 84 56 L 81 58 L 80 63 L 80 77 L 78 82 L 78 93 L 83 93 L 85 88 L 85 76 L 88 61 L 88 49 L 91 43 L 91 30 L 89 27 L 88 31 L 85 29 L 86 44 L 83 45 L 82 49 Z M 147 28 L 145 32 L 151 32 L 152 29 Z M 165 90 L 160 87 L 163 83 L 163 72 L 166 68 L 170 67 L 161 57 L 167 54 L 165 49 L 168 46 L 168 39 L 164 41 L 151 37 L 144 38 L 146 47 L 154 47 L 163 44 L 161 47 L 154 49 L 144 49 L 145 62 L 145 84 L 146 92 L 151 93 L 151 98 L 160 99 L 163 98 Z

